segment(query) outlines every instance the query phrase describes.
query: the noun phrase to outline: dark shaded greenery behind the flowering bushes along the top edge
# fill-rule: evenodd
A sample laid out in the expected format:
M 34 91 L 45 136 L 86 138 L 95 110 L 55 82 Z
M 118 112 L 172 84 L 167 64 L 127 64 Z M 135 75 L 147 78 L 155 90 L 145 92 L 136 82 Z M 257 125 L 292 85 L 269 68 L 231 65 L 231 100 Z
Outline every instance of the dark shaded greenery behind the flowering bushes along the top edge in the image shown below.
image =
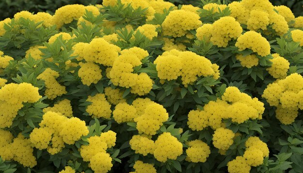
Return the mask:
M 176 5 L 179 4 L 193 4 L 199 5 L 200 0 L 167 0 Z M 227 0 L 236 1 L 236 0 Z M 303 0 L 270 0 L 273 5 L 288 6 L 295 16 L 303 15 Z M 12 18 L 15 13 L 27 10 L 30 12 L 49 12 L 54 13 L 56 9 L 67 4 L 101 4 L 102 0 L 0 0 L 0 20 L 7 17 Z

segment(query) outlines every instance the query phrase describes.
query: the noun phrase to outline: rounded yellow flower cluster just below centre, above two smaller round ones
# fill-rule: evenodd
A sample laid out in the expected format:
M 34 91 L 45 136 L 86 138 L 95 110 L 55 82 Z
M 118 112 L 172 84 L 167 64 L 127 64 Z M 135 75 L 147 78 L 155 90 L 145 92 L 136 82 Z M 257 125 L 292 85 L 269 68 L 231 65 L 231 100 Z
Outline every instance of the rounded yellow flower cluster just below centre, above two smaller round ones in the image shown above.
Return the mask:
M 142 115 L 140 114 L 141 111 L 137 109 L 138 105 L 134 105 L 133 103 L 136 108 L 137 114 L 139 115 L 134 119 L 136 122 L 136 129 L 140 134 L 144 133 L 147 135 L 154 135 L 156 134 L 156 131 L 160 129 L 163 123 L 167 121 L 168 113 L 161 104 L 155 103 L 153 101 L 149 102 L 143 100 L 141 104 L 145 104 L 145 108 L 143 108 L 144 111 L 142 110 L 144 113 Z

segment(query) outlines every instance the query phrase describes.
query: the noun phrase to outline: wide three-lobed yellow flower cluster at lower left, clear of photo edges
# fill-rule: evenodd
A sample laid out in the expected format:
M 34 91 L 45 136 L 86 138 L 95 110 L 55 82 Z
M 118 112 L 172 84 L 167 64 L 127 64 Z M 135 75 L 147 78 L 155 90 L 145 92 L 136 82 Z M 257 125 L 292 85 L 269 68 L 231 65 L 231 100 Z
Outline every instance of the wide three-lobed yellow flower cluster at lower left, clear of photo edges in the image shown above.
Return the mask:
M 61 151 L 66 144 L 75 144 L 82 136 L 89 133 L 85 121 L 76 117 L 66 116 L 48 111 L 43 115 L 43 120 L 30 133 L 30 142 L 40 150 L 47 149 L 54 155 Z

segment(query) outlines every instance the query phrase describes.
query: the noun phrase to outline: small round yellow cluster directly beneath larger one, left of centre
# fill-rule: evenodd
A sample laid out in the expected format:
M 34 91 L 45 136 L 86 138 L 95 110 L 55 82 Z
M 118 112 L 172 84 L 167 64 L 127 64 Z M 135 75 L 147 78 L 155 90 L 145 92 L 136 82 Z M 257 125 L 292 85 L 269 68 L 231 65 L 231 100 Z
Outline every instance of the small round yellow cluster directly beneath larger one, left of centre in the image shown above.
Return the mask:
M 79 63 L 80 69 L 78 71 L 78 76 L 84 85 L 90 86 L 92 83 L 97 84 L 102 78 L 102 70 L 97 64 L 93 62 Z

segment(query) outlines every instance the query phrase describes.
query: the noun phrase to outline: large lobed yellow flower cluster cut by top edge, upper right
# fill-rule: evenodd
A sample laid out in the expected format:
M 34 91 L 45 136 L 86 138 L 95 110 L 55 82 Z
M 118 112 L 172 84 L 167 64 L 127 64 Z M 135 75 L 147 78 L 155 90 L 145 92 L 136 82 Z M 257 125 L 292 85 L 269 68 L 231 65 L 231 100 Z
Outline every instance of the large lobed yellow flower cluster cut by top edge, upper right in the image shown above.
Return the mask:
M 284 35 L 288 31 L 288 23 L 294 20 L 294 15 L 288 7 L 274 7 L 269 0 L 234 1 L 228 4 L 228 8 L 231 11 L 230 16 L 246 25 L 247 29 L 263 30 L 268 34 Z

